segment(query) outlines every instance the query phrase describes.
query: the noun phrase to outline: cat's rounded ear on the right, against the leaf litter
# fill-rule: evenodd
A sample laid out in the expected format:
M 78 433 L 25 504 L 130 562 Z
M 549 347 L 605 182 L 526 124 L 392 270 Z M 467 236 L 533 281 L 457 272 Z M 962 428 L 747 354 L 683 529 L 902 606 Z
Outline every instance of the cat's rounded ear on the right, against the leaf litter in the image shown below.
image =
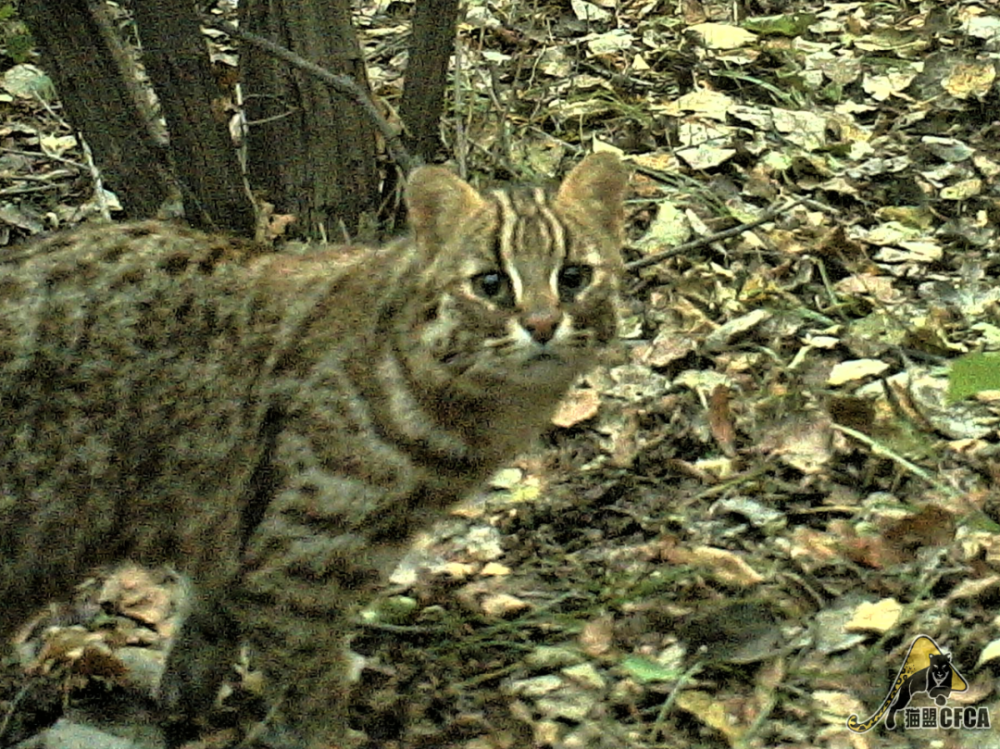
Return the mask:
M 621 159 L 607 151 L 591 154 L 566 175 L 556 204 L 582 213 L 615 236 L 625 220 L 623 201 L 628 170 Z

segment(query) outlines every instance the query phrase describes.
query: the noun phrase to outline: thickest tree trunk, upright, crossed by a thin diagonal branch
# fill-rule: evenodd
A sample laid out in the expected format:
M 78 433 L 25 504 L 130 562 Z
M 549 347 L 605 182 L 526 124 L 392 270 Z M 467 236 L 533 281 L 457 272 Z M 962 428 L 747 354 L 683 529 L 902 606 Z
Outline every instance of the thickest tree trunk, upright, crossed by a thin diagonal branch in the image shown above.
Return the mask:
M 349 0 L 245 0 L 241 27 L 369 89 Z M 340 241 L 378 209 L 374 126 L 352 102 L 255 48 L 240 50 L 251 183 L 310 237 Z

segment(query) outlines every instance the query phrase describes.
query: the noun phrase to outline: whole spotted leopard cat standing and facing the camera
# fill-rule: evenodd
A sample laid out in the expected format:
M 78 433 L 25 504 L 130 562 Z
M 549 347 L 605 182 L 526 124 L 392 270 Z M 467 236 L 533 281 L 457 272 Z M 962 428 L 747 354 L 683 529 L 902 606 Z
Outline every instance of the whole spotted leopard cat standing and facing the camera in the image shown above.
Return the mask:
M 382 248 L 144 222 L 0 256 L 0 637 L 97 565 L 171 565 L 165 744 L 246 642 L 289 745 L 344 746 L 352 610 L 615 338 L 626 185 L 607 153 L 554 191 L 428 166 Z

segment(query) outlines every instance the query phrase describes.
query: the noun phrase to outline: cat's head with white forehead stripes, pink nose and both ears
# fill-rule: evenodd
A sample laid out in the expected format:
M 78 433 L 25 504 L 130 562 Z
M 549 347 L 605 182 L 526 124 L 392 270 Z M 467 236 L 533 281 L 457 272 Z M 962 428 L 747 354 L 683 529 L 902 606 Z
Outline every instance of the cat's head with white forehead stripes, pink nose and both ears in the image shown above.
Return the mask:
M 406 199 L 423 267 L 417 337 L 452 380 L 562 391 L 617 331 L 618 157 L 584 159 L 558 190 L 478 192 L 442 167 Z

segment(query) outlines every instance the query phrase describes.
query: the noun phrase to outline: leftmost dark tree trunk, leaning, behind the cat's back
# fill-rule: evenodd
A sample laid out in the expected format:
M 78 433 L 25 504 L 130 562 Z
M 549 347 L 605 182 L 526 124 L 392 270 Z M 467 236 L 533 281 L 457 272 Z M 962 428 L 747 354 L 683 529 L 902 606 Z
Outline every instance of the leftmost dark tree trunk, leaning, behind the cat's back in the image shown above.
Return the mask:
M 90 146 L 128 218 L 155 216 L 170 192 L 165 149 L 151 135 L 134 66 L 103 7 L 87 0 L 21 0 L 66 119 Z

